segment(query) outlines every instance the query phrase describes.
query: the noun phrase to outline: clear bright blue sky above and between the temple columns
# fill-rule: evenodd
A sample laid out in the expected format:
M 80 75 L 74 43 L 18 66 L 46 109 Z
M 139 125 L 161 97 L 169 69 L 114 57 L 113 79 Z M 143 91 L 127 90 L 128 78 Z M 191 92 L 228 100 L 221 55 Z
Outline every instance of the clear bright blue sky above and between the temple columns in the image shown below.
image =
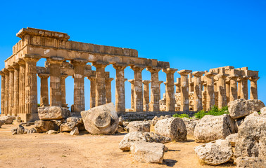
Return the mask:
M 4 60 L 20 40 L 15 34 L 23 27 L 34 27 L 68 33 L 72 41 L 134 48 L 139 57 L 170 62 L 179 70 L 248 66 L 260 71 L 258 97 L 266 103 L 265 9 L 265 0 L 1 1 L 0 68 L 4 68 Z M 41 59 L 37 65 L 44 66 L 44 61 Z M 107 66 L 106 71 L 115 78 L 113 66 Z M 142 74 L 144 80 L 151 78 L 146 70 Z M 159 76 L 165 81 L 163 72 Z M 175 73 L 175 77 L 179 74 Z M 134 78 L 129 67 L 125 78 Z M 89 109 L 89 80 L 84 80 Z M 163 94 L 165 85 L 161 86 Z M 66 79 L 66 87 L 67 103 L 71 105 L 71 76 Z M 125 82 L 125 87 L 129 108 L 130 83 Z M 115 80 L 112 94 L 115 102 Z

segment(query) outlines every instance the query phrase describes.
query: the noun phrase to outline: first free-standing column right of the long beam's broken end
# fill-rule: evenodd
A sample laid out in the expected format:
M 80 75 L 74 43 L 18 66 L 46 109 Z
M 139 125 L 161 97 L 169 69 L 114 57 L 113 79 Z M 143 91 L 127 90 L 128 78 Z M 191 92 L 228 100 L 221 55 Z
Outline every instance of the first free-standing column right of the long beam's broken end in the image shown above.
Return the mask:
M 180 111 L 189 111 L 189 80 L 188 74 L 191 70 L 178 71 L 181 76 Z

